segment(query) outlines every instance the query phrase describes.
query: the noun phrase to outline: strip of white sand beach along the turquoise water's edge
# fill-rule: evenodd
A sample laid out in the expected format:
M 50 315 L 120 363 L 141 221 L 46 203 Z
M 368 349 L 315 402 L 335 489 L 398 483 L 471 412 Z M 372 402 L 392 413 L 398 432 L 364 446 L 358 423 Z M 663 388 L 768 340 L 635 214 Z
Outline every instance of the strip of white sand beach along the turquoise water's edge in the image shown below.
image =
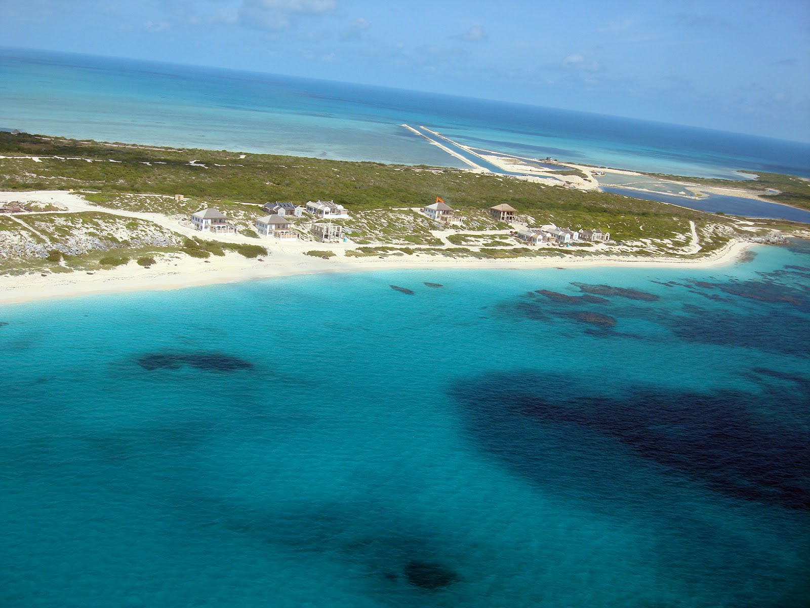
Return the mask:
M 462 268 L 589 268 L 589 267 L 648 267 L 712 268 L 734 263 L 751 246 L 748 242 L 731 242 L 723 250 L 701 259 L 671 258 L 518 258 L 518 259 L 454 259 L 428 255 L 403 255 L 379 258 L 331 259 L 313 258 L 297 252 L 284 252 L 271 246 L 271 255 L 245 259 L 241 255 L 211 256 L 208 260 L 178 256 L 171 261 L 143 268 L 134 262 L 111 270 L 92 274 L 76 271 L 69 274 L 2 276 L 0 304 L 14 304 L 54 298 L 75 298 L 102 293 L 122 293 L 165 289 L 185 289 L 198 285 L 236 283 L 245 280 L 278 276 L 315 274 L 323 272 L 359 272 L 400 269 L 451 270 Z

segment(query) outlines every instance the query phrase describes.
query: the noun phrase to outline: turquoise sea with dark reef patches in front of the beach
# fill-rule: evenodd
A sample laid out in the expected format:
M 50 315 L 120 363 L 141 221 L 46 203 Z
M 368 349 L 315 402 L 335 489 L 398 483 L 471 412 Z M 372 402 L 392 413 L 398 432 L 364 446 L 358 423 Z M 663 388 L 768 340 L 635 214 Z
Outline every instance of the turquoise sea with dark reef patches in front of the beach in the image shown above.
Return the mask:
M 810 246 L 754 252 L 5 306 L 0 606 L 804 608 Z

